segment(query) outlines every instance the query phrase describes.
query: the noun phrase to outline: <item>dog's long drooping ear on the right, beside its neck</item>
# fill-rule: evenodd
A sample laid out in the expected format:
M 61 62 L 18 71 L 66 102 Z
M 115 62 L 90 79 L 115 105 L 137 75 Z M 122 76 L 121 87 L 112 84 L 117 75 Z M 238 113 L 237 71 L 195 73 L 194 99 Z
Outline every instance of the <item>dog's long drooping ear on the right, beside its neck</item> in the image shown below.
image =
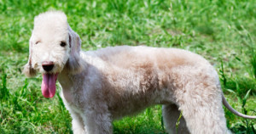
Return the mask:
M 70 57 L 67 61 L 66 68 L 72 74 L 78 74 L 84 70 L 85 64 L 80 57 L 81 39 L 79 35 L 74 32 L 68 25 L 68 42 L 70 51 Z

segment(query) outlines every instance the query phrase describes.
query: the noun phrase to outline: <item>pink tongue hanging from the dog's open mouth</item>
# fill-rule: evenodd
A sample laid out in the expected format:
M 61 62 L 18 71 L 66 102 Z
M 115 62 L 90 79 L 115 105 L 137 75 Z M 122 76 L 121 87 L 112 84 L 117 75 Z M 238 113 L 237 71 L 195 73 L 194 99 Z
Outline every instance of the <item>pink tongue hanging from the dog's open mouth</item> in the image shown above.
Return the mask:
M 44 74 L 43 81 L 41 85 L 41 90 L 44 95 L 44 98 L 53 98 L 56 91 L 56 80 L 58 74 Z

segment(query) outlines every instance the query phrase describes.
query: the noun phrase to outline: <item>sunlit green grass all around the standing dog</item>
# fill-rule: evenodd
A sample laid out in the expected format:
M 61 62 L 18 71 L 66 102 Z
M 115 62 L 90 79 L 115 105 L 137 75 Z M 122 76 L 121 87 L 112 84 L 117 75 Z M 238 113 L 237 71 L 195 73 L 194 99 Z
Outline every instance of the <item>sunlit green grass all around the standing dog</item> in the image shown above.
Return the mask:
M 0 0 L 0 133 L 71 133 L 71 118 L 59 96 L 44 98 L 41 76 L 21 74 L 33 17 L 50 9 L 67 14 L 84 51 L 126 44 L 201 54 L 218 70 L 229 103 L 255 115 L 255 8 L 254 0 Z M 256 133 L 255 120 L 226 109 L 225 115 L 235 133 Z M 165 133 L 160 106 L 113 125 L 114 133 Z

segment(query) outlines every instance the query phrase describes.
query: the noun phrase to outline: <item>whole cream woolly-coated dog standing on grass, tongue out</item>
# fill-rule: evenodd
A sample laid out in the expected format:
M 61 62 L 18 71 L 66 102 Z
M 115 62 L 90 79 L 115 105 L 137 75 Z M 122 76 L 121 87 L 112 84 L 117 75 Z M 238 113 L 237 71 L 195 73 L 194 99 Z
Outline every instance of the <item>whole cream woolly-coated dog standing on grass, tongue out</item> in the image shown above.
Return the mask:
M 106 47 L 80 50 L 81 40 L 60 11 L 35 17 L 30 54 L 24 73 L 43 74 L 42 93 L 61 98 L 72 116 L 75 134 L 113 133 L 113 120 L 162 104 L 166 131 L 178 133 L 230 133 L 224 118 L 226 106 L 218 74 L 200 55 L 177 48 Z

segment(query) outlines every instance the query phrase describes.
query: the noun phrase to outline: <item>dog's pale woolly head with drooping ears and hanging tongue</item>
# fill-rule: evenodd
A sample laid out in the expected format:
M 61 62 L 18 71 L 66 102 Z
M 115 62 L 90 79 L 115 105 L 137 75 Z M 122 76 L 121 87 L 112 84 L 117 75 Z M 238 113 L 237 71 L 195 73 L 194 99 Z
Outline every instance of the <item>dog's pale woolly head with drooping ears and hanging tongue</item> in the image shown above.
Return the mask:
M 67 23 L 67 16 L 50 11 L 35 17 L 29 41 L 29 59 L 24 73 L 32 77 L 43 74 L 42 92 L 45 98 L 55 95 L 55 82 L 62 71 L 76 74 L 84 69 L 79 56 L 81 40 Z

